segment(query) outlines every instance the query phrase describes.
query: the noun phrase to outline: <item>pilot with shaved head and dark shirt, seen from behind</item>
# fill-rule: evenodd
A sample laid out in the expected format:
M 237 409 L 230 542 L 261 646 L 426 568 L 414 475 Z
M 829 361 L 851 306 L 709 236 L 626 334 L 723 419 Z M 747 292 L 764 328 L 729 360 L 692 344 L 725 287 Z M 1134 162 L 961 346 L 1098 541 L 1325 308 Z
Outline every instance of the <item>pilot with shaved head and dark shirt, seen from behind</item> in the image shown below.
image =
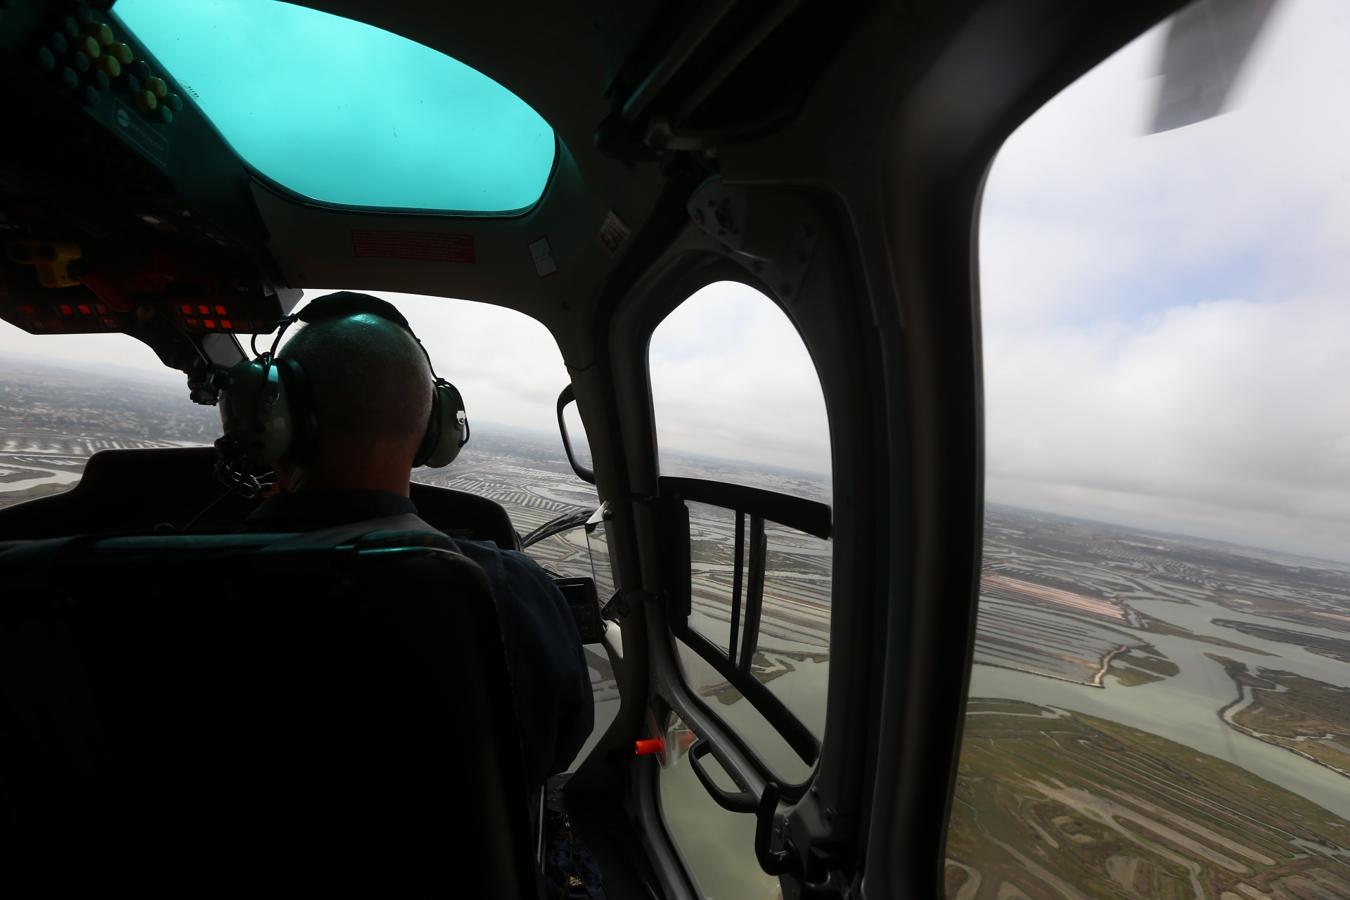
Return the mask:
M 338 313 L 313 317 L 317 305 Z M 305 318 L 313 317 L 312 324 L 278 354 L 300 363 L 315 436 L 304 461 L 284 456 L 273 464 L 279 493 L 248 517 L 246 530 L 436 532 L 409 499 L 413 460 L 432 409 L 429 360 L 412 332 L 389 317 L 343 312 L 362 308 L 404 321 L 374 297 L 329 294 L 310 304 Z M 576 623 L 562 592 L 524 553 L 489 542 L 455 544 L 493 586 L 525 773 L 532 784 L 543 784 L 571 762 L 593 726 Z

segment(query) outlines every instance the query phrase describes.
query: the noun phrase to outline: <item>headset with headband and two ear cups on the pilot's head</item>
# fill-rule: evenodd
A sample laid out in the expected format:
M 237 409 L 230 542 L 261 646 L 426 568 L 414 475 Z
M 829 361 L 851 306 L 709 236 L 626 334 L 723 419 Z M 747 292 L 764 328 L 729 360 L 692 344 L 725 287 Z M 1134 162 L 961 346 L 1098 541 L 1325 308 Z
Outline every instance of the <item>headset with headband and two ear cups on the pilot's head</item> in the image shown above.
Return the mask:
M 413 466 L 450 466 L 468 443 L 468 418 L 459 390 L 436 375 L 431 354 L 413 333 L 393 304 L 354 291 L 328 294 L 278 322 L 271 349 L 236 363 L 220 387 L 220 424 L 224 436 L 216 441 L 221 461 L 248 479 L 243 466 L 256 468 L 278 460 L 304 461 L 315 449 L 319 416 L 305 370 L 294 359 L 277 358 L 281 336 L 296 321 L 315 324 L 367 313 L 406 331 L 427 356 L 432 376 L 431 418 Z M 256 348 L 255 348 L 256 352 Z M 250 479 L 251 480 L 251 479 Z

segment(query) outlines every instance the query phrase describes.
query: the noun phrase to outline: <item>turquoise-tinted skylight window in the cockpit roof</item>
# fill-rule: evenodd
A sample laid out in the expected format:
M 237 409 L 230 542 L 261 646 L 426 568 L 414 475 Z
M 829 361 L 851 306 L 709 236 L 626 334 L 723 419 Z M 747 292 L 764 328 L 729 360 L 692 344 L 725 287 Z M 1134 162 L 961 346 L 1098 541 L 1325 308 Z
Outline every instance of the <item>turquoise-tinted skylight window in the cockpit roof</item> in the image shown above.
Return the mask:
M 244 162 L 298 194 L 501 213 L 544 193 L 548 123 L 443 53 L 274 0 L 122 0 L 116 15 Z

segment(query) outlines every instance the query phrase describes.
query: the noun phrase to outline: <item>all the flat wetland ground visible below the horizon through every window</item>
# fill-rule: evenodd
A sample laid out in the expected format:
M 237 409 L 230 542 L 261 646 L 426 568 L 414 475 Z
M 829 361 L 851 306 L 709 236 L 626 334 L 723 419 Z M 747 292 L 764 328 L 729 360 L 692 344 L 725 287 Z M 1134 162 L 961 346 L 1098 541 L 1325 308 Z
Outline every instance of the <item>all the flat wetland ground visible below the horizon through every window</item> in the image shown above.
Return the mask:
M 159 385 L 0 364 L 0 506 L 68 490 L 100 449 L 217 430 L 213 409 Z M 803 474 L 679 466 L 829 501 Z M 454 466 L 417 479 L 498 501 L 521 534 L 595 506 L 547 432 L 475 424 Z M 733 536 L 730 514 L 691 509 L 691 623 L 724 648 Z M 767 544 L 752 671 L 822 734 L 830 545 L 772 524 Z M 594 572 L 608 599 L 603 528 L 532 553 Z M 587 661 L 603 726 L 617 685 L 598 648 Z M 686 668 L 801 775 L 724 679 Z M 690 785 L 676 762 L 663 796 Z M 990 505 L 945 881 L 960 900 L 1350 897 L 1350 565 Z

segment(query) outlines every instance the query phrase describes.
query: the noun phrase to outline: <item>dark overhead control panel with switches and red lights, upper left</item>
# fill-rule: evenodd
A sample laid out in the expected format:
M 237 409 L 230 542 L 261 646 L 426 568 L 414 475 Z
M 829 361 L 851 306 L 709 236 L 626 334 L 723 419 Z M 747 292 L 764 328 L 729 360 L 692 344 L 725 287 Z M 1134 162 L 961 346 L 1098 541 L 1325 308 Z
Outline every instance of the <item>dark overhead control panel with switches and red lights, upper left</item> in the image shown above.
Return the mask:
M 193 372 L 211 335 L 271 331 L 250 173 L 111 3 L 0 3 L 0 317 L 124 332 Z

